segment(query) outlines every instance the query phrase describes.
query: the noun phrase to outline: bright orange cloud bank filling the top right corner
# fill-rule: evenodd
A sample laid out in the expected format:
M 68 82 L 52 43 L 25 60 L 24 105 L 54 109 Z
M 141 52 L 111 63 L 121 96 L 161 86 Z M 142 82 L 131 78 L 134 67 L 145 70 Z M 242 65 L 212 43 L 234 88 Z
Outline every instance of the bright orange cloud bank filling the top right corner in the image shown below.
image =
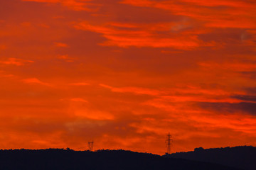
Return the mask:
M 161 8 L 171 11 L 174 15 L 188 16 L 203 21 L 204 26 L 212 28 L 256 28 L 256 20 L 253 21 L 251 18 L 252 13 L 255 13 L 255 4 L 251 1 L 124 0 L 122 3 L 132 6 Z

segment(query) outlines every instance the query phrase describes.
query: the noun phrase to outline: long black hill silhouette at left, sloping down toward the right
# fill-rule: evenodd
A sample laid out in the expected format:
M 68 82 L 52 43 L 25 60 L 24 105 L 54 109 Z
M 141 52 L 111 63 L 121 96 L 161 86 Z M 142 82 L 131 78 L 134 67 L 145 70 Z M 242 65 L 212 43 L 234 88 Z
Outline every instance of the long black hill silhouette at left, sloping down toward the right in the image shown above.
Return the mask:
M 124 150 L 99 150 L 97 152 L 89 152 L 74 151 L 72 149 L 0 150 L 0 169 L 237 170 L 218 164 L 161 157 L 155 154 Z

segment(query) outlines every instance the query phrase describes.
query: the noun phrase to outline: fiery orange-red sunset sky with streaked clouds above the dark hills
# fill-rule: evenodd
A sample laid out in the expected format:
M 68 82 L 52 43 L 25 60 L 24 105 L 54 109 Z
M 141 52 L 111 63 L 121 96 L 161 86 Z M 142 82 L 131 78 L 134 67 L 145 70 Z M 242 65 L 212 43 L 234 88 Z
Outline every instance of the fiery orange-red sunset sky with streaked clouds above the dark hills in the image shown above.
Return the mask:
M 0 0 L 0 148 L 256 145 L 255 0 Z

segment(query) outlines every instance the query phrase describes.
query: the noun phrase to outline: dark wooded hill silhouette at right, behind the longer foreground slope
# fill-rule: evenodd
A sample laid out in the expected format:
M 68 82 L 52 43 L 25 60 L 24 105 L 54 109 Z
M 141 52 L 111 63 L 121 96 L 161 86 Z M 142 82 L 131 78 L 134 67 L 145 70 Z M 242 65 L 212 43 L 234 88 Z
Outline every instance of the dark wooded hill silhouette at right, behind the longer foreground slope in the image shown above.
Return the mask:
M 199 147 L 193 152 L 179 152 L 169 157 L 223 164 L 246 170 L 256 169 L 256 147 L 251 146 L 213 149 Z

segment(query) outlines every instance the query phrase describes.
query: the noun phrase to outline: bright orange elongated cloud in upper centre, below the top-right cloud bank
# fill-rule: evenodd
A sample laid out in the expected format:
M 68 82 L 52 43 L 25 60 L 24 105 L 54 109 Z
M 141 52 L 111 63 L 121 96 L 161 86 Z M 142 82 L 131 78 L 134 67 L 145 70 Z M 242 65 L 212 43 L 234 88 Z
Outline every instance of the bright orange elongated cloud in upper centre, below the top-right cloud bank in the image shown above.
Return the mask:
M 107 41 L 100 43 L 103 46 L 174 47 L 182 50 L 190 50 L 195 47 L 213 45 L 211 42 L 199 40 L 198 36 L 193 33 L 172 33 L 169 23 L 166 23 L 166 26 L 158 26 L 157 24 L 147 26 L 139 24 L 126 25 L 123 23 L 107 23 L 103 26 L 95 26 L 87 22 L 82 22 L 75 25 L 75 28 L 101 33 L 107 39 Z M 162 32 L 165 36 L 162 36 L 161 30 L 157 28 L 164 29 Z

